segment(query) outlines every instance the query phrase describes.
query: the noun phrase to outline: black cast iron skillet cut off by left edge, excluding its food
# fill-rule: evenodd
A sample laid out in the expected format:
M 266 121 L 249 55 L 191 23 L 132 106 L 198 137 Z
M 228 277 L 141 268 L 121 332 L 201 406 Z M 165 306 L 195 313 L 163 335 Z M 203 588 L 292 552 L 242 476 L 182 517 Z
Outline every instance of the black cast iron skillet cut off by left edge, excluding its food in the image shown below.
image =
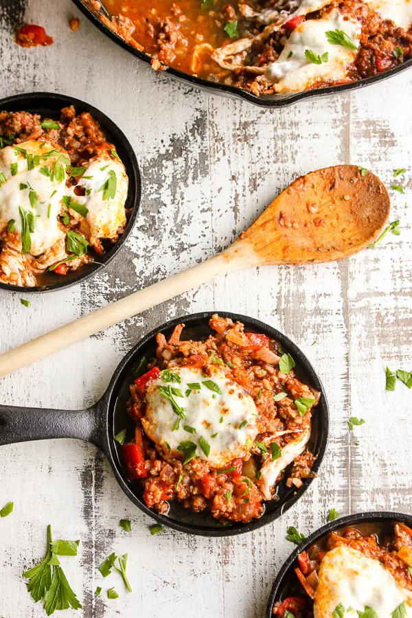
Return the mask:
M 133 209 L 133 212 L 128 220 L 124 233 L 119 238 L 118 242 L 113 244 L 113 249 L 109 249 L 102 256 L 95 255 L 96 262 L 91 264 L 85 264 L 77 271 L 68 271 L 67 275 L 56 275 L 56 273 L 47 272 L 41 275 L 42 285 L 35 286 L 34 288 L 25 288 L 23 286 L 10 286 L 8 284 L 0 283 L 1 290 L 8 290 L 9 292 L 21 292 L 24 294 L 40 293 L 40 292 L 53 292 L 54 290 L 61 290 L 63 288 L 69 288 L 74 284 L 78 284 L 85 279 L 89 279 L 94 273 L 100 271 L 106 264 L 111 262 L 118 251 L 122 248 L 122 245 L 133 230 L 137 213 L 139 211 L 140 196 L 141 196 L 141 181 L 139 165 L 135 152 L 133 151 L 130 142 L 126 138 L 126 135 L 119 129 L 119 127 L 106 116 L 98 108 L 84 103 L 79 99 L 73 99 L 66 95 L 59 95 L 48 92 L 34 92 L 21 95 L 14 95 L 12 97 L 6 97 L 0 99 L 0 112 L 1 111 L 27 111 L 32 114 L 40 114 L 48 118 L 58 120 L 60 117 L 60 109 L 73 105 L 76 108 L 76 113 L 87 111 L 91 113 L 93 118 L 100 124 L 104 135 L 107 140 L 114 144 L 119 154 L 120 159 L 124 163 L 126 172 L 128 175 L 128 194 L 126 199 L 126 209 Z M 91 255 L 93 255 L 91 253 Z

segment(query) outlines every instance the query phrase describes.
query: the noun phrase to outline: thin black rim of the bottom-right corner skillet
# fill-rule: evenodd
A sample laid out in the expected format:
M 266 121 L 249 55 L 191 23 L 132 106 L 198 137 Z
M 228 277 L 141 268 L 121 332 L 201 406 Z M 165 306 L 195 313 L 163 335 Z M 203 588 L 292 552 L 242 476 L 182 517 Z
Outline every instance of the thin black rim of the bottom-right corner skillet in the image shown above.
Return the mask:
M 286 562 L 282 564 L 282 568 L 280 569 L 279 573 L 277 573 L 275 583 L 273 584 L 271 589 L 271 595 L 269 596 L 265 618 L 273 618 L 273 604 L 275 604 L 275 597 L 279 592 L 280 586 L 282 586 L 284 576 L 288 573 L 288 570 L 292 566 L 293 562 L 295 562 L 298 554 L 301 553 L 301 551 L 308 549 L 308 547 L 310 547 L 312 543 L 316 542 L 324 534 L 327 534 L 332 530 L 337 530 L 339 528 L 345 527 L 346 525 L 369 523 L 375 521 L 382 521 L 388 523 L 391 523 L 393 521 L 402 521 L 409 523 L 409 525 L 412 525 L 412 515 L 390 511 L 370 511 L 355 513 L 354 515 L 347 515 L 345 517 L 335 519 L 334 521 L 331 521 L 330 523 L 312 532 L 312 534 L 308 536 L 308 538 L 306 538 L 304 542 L 301 542 L 301 544 L 298 545 L 296 549 L 290 554 Z

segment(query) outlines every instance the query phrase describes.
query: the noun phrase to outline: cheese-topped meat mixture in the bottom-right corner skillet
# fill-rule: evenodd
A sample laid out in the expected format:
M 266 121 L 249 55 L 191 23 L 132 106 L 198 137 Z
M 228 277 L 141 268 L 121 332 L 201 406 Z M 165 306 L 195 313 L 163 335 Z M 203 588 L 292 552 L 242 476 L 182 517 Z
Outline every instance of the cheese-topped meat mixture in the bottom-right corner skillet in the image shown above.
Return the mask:
M 297 560 L 301 594 L 275 604 L 279 618 L 412 616 L 412 530 L 403 523 L 330 532 Z

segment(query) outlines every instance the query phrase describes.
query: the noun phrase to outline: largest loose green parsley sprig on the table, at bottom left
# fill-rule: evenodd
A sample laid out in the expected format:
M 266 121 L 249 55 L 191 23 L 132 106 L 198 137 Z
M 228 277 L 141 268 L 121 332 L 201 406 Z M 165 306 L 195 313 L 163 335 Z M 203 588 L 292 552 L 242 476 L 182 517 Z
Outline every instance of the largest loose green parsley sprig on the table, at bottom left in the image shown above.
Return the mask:
M 72 548 L 72 553 L 69 555 L 76 556 L 75 545 L 78 541 L 56 541 L 52 540 L 52 527 L 47 527 L 47 553 L 45 559 L 37 564 L 36 567 L 25 571 L 23 577 L 30 579 L 27 586 L 27 591 L 30 592 L 35 602 L 44 601 L 44 608 L 47 616 L 52 615 L 56 610 L 68 609 L 69 606 L 73 609 L 81 609 L 82 606 L 72 591 L 67 582 L 65 573 L 60 567 L 60 562 L 56 554 L 66 555 L 67 544 Z

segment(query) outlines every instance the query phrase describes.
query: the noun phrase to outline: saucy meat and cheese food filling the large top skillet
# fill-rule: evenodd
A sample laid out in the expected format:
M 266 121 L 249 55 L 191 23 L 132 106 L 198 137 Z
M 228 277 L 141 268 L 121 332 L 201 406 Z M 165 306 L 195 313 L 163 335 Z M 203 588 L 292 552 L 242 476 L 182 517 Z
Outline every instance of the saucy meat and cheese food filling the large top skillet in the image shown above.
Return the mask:
M 100 3 L 85 0 L 94 10 Z M 410 0 L 105 0 L 119 36 L 161 63 L 255 95 L 345 84 L 412 55 Z

